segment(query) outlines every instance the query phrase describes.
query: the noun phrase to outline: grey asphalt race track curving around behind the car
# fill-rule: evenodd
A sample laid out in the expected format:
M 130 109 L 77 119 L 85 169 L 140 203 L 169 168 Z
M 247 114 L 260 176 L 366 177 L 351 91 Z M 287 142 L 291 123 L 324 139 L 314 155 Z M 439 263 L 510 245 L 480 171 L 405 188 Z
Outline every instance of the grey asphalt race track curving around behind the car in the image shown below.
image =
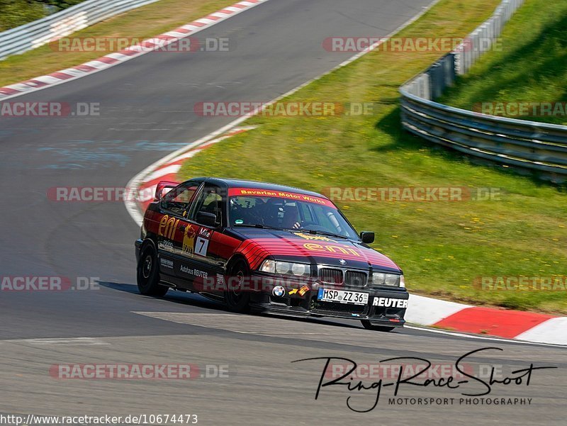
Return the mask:
M 101 115 L 0 118 L 1 276 L 97 277 L 90 291 L 0 292 L 0 413 L 198 415 L 203 425 L 563 425 L 566 350 L 359 323 L 232 315 L 200 296 L 137 293 L 137 225 L 121 202 L 56 202 L 56 186 L 125 186 L 148 164 L 233 118 L 193 113 L 199 101 L 269 101 L 352 53 L 327 52 L 324 38 L 385 36 L 430 0 L 270 0 L 198 33 L 229 38 L 230 52 L 150 53 L 89 77 L 13 101 L 100 103 Z M 219 175 L 223 174 L 219 170 Z M 325 360 L 369 363 L 421 357 L 533 371 L 529 386 L 495 385 L 484 398 L 532 398 L 531 405 L 460 404 L 468 388 L 402 386 L 398 397 L 455 398 L 454 405 L 347 407 L 345 386 L 315 391 Z M 407 361 L 412 363 L 415 361 Z M 54 364 L 227 366 L 228 377 L 186 380 L 64 380 Z M 224 368 L 224 367 L 223 367 Z M 214 371 L 213 367 L 210 367 Z M 215 375 L 211 373 L 210 375 Z M 369 381 L 371 382 L 371 381 Z M 368 383 L 367 383 L 368 384 Z M 362 395 L 364 394 L 364 395 Z M 373 405 L 352 393 L 353 408 Z

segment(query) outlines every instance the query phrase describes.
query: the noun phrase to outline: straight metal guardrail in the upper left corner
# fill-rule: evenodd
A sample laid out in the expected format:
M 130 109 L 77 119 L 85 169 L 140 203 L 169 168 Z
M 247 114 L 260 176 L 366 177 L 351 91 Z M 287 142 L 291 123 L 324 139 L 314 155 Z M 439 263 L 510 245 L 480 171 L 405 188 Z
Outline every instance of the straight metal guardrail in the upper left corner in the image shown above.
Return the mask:
M 58 40 L 94 23 L 158 0 L 86 0 L 0 33 L 0 60 Z

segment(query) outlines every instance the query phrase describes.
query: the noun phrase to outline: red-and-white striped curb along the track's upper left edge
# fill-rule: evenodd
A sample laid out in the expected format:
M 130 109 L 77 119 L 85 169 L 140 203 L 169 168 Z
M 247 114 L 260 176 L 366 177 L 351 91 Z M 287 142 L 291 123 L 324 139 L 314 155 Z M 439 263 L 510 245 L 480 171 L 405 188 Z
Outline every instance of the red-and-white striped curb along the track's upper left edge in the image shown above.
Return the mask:
M 265 3 L 266 1 L 269 0 L 239 1 L 232 6 L 220 9 L 220 11 L 210 13 L 210 15 L 207 15 L 204 18 L 197 19 L 196 21 L 180 26 L 172 31 L 157 35 L 156 37 L 148 38 L 147 40 L 129 46 L 119 52 L 109 53 L 108 55 L 99 57 L 99 59 L 91 60 L 75 67 L 61 69 L 60 71 L 52 72 L 51 74 L 34 77 L 33 79 L 26 80 L 25 82 L 0 87 L 0 101 L 20 96 L 22 94 L 28 94 L 32 91 L 45 89 L 46 87 L 55 86 L 64 82 L 69 82 L 74 79 L 79 79 L 86 75 L 102 71 L 103 69 L 108 69 L 122 62 L 132 60 L 135 57 L 153 52 L 154 50 L 158 50 L 170 43 L 174 43 L 175 41 L 186 38 L 189 35 L 198 33 L 199 31 L 224 21 L 231 16 L 235 16 L 237 13 L 247 11 L 254 6 Z

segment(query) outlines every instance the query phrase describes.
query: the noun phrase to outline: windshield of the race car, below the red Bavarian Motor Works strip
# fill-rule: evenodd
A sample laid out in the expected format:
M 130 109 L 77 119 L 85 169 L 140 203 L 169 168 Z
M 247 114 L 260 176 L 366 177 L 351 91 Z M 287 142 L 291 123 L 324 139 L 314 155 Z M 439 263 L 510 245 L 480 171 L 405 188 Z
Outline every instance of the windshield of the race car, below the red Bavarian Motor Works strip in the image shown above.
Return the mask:
M 321 198 L 322 199 L 322 198 Z M 266 226 L 342 235 L 358 240 L 357 232 L 327 201 L 324 204 L 279 196 L 232 196 L 231 226 Z

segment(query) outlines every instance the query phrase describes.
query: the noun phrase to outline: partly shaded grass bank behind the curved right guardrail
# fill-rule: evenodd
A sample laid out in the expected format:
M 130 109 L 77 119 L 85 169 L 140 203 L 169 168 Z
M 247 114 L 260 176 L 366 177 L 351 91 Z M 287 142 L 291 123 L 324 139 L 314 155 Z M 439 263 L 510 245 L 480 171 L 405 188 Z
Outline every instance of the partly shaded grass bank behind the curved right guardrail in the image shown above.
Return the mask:
M 507 23 L 502 46 L 439 101 L 465 109 L 476 102 L 567 101 L 567 1 L 526 1 Z M 563 114 L 513 118 L 567 125 Z

